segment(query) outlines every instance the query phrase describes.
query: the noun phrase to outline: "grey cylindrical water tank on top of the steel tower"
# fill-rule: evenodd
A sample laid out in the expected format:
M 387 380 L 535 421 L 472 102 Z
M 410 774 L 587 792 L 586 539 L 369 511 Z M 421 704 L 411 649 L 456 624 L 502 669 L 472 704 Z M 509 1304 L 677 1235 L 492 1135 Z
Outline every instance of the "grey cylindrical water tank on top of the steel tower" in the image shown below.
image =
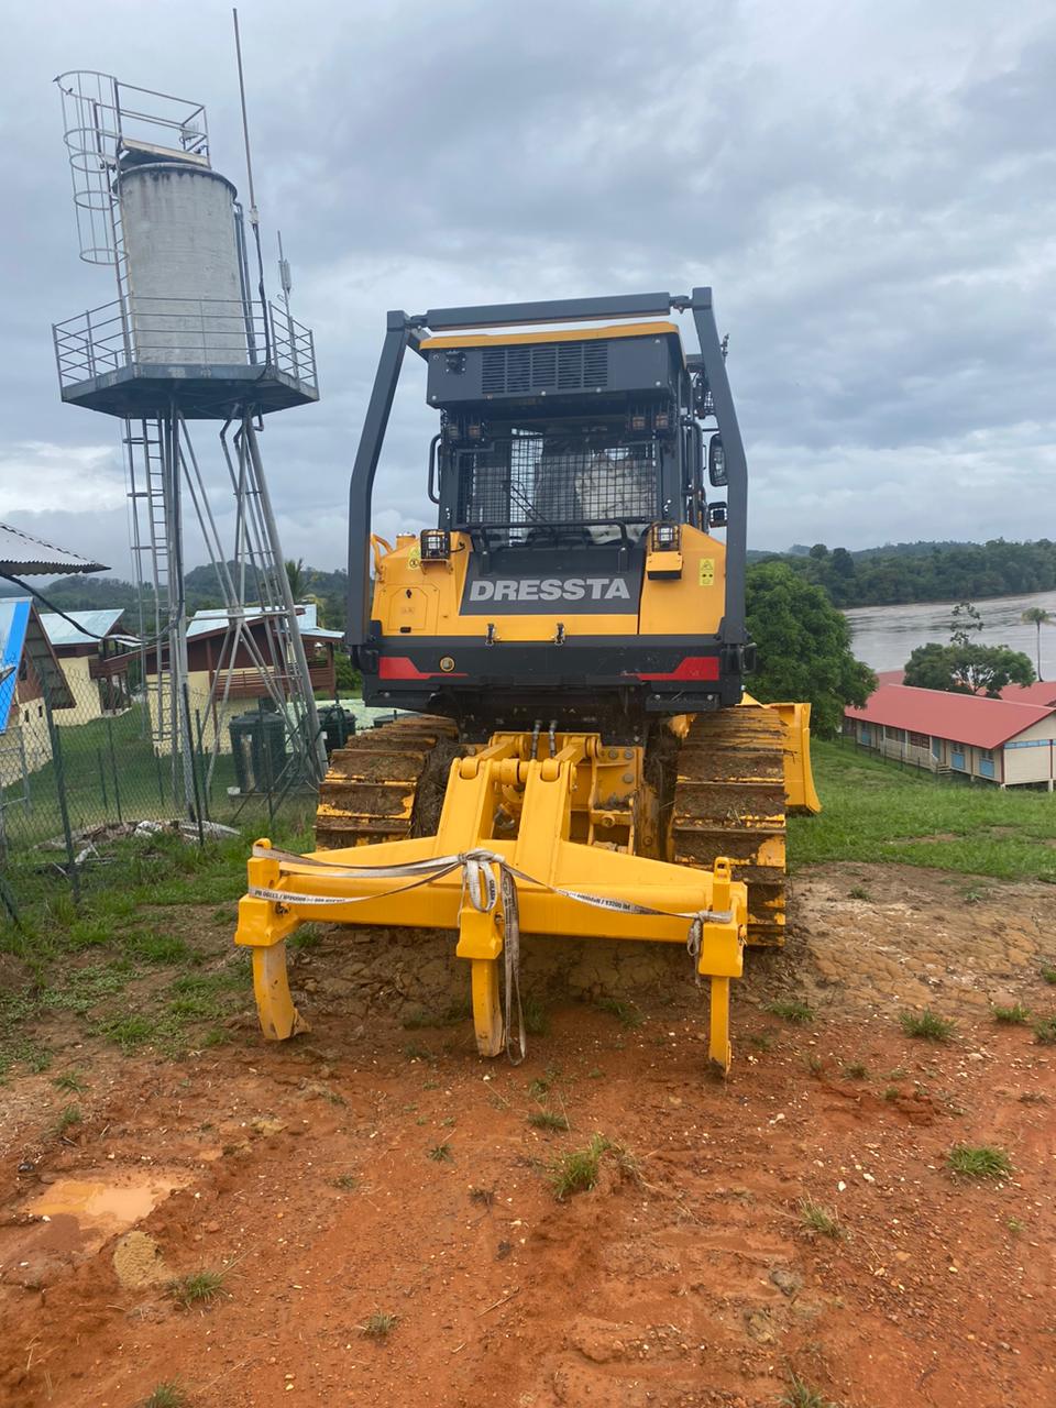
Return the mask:
M 204 166 L 149 162 L 117 180 L 132 358 L 245 366 L 235 187 Z

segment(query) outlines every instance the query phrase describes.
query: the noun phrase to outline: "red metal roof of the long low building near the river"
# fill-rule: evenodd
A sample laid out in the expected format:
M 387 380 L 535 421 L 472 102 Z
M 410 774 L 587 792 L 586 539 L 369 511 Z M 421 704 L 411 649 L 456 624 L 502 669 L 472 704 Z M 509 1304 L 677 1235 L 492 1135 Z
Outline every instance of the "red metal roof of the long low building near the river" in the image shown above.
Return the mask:
M 945 690 L 918 690 L 908 684 L 881 684 L 869 696 L 865 708 L 843 711 L 865 724 L 907 728 L 914 734 L 945 738 L 976 748 L 998 748 L 1022 734 L 1031 724 L 1056 714 L 1043 704 L 1012 704 L 987 700 L 977 694 L 948 694 Z

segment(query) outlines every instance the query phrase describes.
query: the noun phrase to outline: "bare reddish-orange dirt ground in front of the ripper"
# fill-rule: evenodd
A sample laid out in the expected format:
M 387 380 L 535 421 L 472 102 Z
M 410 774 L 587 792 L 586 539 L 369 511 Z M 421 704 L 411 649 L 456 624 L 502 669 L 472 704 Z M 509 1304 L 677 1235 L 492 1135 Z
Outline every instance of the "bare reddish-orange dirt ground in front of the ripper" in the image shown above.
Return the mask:
M 1055 1405 L 1056 1048 L 987 1004 L 1056 1008 L 1056 893 L 969 886 L 812 872 L 786 953 L 749 956 L 725 1084 L 689 983 L 636 1028 L 565 1001 L 514 1069 L 465 1022 L 344 1015 L 339 932 L 298 976 L 311 1036 L 65 1052 L 89 1091 L 63 1138 L 62 1063 L 0 1090 L 0 1402 L 132 1408 L 177 1378 L 230 1408 L 772 1408 L 794 1373 L 845 1408 Z M 814 1024 L 765 1011 L 790 995 Z M 901 1033 L 925 1001 L 949 1043 Z M 532 1128 L 541 1105 L 572 1129 Z M 556 1201 L 548 1166 L 593 1132 L 625 1155 Z M 962 1142 L 1012 1176 L 956 1180 Z M 110 1222 L 27 1211 L 70 1178 L 108 1190 Z M 804 1198 L 843 1235 L 807 1229 Z M 168 1281 L 203 1269 L 224 1294 L 179 1309 Z

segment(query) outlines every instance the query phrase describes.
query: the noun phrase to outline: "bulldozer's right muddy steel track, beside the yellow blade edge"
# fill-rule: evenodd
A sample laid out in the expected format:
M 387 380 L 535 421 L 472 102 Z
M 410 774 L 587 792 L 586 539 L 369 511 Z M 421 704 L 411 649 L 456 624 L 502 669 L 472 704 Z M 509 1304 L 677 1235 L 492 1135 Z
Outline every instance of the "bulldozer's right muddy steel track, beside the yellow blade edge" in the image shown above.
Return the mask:
M 698 714 L 683 739 L 670 814 L 672 857 L 728 856 L 748 884 L 748 942 L 784 942 L 784 734 L 774 710 Z

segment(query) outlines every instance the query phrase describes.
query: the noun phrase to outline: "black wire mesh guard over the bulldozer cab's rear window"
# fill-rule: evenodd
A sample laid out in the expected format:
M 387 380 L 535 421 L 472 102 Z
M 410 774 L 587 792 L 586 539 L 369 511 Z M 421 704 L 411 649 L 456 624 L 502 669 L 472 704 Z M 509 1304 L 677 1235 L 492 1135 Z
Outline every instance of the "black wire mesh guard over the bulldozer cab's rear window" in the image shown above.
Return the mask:
M 510 545 L 562 528 L 587 542 L 639 536 L 662 517 L 660 459 L 656 439 L 514 431 L 456 453 L 458 527 L 496 529 Z

